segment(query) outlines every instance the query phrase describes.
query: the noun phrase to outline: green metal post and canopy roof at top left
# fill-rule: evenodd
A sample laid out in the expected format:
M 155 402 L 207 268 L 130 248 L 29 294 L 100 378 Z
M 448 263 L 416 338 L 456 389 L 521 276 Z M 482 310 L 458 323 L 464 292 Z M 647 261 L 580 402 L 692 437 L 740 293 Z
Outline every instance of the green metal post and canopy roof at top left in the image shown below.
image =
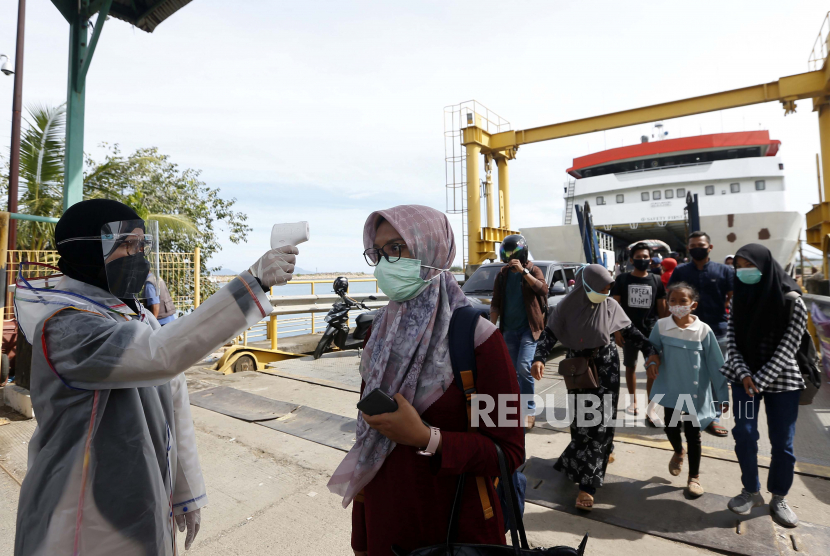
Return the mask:
M 86 75 L 108 16 L 153 32 L 191 0 L 52 0 L 69 22 L 69 79 L 66 92 L 66 162 L 63 209 L 83 200 Z M 98 14 L 95 23 L 90 18 Z M 92 36 L 88 36 L 92 27 Z

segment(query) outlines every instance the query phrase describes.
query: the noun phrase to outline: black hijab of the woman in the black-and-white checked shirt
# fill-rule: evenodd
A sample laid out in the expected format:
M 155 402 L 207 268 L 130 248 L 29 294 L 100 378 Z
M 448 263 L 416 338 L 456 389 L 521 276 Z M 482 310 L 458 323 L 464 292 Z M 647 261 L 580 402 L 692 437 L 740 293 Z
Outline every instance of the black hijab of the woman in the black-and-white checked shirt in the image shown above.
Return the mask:
M 769 356 L 763 358 L 758 346 L 763 340 L 772 340 L 778 345 L 789 324 L 784 296 L 789 292 L 801 294 L 801 288 L 763 245 L 744 245 L 735 253 L 735 263 L 738 257 L 761 271 L 761 281 L 757 284 L 744 284 L 735 278 L 731 314 L 738 351 L 749 369 L 757 371 L 772 355 L 770 351 Z

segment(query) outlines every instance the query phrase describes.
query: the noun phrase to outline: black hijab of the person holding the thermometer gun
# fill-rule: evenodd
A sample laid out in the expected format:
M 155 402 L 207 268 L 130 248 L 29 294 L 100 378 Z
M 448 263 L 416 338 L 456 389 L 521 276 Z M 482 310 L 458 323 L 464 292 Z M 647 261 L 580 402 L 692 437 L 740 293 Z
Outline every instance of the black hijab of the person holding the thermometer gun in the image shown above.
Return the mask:
M 61 256 L 58 268 L 61 272 L 75 280 L 109 291 L 101 242 L 60 242 L 73 237 L 100 236 L 104 224 L 120 220 L 141 220 L 141 217 L 124 203 L 111 199 L 81 201 L 66 209 L 55 225 L 55 244 Z M 134 298 L 121 301 L 136 313 L 139 312 Z

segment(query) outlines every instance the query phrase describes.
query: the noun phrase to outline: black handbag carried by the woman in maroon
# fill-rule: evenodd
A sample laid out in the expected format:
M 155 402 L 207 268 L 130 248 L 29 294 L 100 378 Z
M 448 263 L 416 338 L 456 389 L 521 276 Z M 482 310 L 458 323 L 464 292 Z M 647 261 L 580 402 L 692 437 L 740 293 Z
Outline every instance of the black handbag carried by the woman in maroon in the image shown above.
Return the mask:
M 452 512 L 450 513 L 450 524 L 447 529 L 447 541 L 443 544 L 416 548 L 412 551 L 407 551 L 399 546 L 392 545 L 392 553 L 395 556 L 583 556 L 585 546 L 588 544 L 587 533 L 582 538 L 579 548 L 554 546 L 551 548 L 536 547 L 531 549 L 529 547 L 522 516 L 516 511 L 516 507 L 518 506 L 516 489 L 513 486 L 513 479 L 507 470 L 507 460 L 504 457 L 501 446 L 495 442 L 493 444 L 496 446 L 496 453 L 499 456 L 499 471 L 501 472 L 502 484 L 508 487 L 506 490 L 510 494 L 505 497 L 505 500 L 508 511 L 510 512 L 510 539 L 512 546 L 499 544 L 462 544 L 454 542 L 458 533 L 461 497 L 464 492 L 464 482 L 467 476 L 465 473 L 458 478 L 458 486 L 455 490 L 455 499 L 453 500 Z

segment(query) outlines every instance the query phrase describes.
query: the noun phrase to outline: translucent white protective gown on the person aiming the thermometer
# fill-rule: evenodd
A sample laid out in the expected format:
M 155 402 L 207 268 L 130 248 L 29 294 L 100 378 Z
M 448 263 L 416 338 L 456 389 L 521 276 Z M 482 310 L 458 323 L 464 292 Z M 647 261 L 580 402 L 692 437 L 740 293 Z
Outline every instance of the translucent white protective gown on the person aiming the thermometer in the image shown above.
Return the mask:
M 244 272 L 164 327 L 66 276 L 15 310 L 38 422 L 15 556 L 176 554 L 174 514 L 207 503 L 182 372 L 270 312 L 262 288 Z

